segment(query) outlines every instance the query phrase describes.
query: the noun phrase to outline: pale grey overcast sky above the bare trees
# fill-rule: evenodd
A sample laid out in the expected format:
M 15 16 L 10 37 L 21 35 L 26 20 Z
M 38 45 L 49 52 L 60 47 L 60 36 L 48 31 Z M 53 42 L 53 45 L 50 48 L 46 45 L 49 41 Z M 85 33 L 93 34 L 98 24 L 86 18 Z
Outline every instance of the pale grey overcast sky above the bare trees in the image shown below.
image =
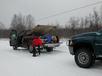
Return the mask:
M 59 12 L 71 10 L 80 6 L 102 0 L 0 0 L 0 22 L 10 25 L 14 14 L 31 14 L 35 20 L 50 16 Z M 101 4 L 84 8 L 75 12 L 66 13 L 53 18 L 35 21 L 36 24 L 65 24 L 72 16 L 84 17 L 92 12 L 93 8 L 100 8 Z

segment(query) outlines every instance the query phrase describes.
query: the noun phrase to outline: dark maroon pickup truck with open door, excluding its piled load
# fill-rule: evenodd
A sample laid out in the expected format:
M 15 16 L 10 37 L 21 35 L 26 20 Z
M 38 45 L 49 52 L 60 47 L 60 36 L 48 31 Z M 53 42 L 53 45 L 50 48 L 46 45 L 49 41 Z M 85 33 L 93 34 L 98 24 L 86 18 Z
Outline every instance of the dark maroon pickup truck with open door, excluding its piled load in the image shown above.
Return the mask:
M 32 41 L 33 37 L 36 34 L 36 32 L 27 34 L 29 31 L 23 31 L 20 33 L 17 33 L 16 30 L 12 30 L 10 33 L 10 46 L 13 47 L 14 50 L 17 50 L 18 47 L 24 47 L 29 50 L 30 53 L 32 53 Z M 38 33 L 37 33 L 38 34 Z M 39 36 L 42 36 L 41 33 L 39 33 Z M 56 37 L 56 36 L 53 36 Z M 54 47 L 58 47 L 60 45 L 59 38 L 56 37 L 57 40 L 53 40 L 51 43 L 45 43 L 43 45 L 43 49 L 46 49 L 47 52 L 53 51 Z M 44 38 L 41 38 L 42 41 L 44 41 Z M 42 49 L 42 48 L 41 48 Z

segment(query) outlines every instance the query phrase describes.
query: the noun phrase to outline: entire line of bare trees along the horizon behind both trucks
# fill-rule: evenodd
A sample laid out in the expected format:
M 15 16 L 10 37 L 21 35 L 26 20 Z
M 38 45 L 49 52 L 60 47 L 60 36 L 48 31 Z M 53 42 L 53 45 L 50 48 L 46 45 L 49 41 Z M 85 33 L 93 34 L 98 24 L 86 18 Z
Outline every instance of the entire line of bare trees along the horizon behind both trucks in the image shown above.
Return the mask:
M 1 28 L 1 25 L 2 27 L 4 26 L 0 23 L 0 38 L 9 37 L 11 29 L 20 32 L 23 30 L 31 30 L 36 26 L 32 15 L 22 16 L 21 14 L 15 14 L 13 16 L 9 29 L 3 29 L 5 27 Z M 50 33 L 64 38 L 69 38 L 84 32 L 98 31 L 102 29 L 102 11 L 97 12 L 96 10 L 93 10 L 88 16 L 82 18 L 71 17 L 65 24 L 65 28 L 61 28 L 61 25 L 59 24 L 56 24 L 55 26 L 57 27 L 56 30 L 54 32 L 50 31 Z

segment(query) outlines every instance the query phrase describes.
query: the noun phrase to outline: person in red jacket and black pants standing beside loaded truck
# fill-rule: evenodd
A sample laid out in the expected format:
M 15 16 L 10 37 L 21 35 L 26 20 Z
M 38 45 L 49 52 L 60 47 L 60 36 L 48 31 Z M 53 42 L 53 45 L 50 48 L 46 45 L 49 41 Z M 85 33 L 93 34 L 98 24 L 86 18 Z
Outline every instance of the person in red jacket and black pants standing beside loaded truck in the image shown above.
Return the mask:
M 32 42 L 33 56 L 36 56 L 37 50 L 40 55 L 40 46 L 43 46 L 42 40 L 40 39 L 40 37 L 34 36 L 33 42 Z M 37 47 L 37 49 L 36 49 L 36 47 Z

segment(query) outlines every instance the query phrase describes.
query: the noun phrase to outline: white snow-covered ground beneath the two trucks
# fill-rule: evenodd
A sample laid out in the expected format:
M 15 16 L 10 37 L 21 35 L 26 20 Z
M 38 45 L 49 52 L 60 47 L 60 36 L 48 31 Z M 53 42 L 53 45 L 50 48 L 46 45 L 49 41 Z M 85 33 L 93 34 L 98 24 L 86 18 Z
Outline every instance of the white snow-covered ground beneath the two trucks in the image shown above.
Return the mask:
M 79 68 L 65 40 L 53 52 L 32 57 L 27 50 L 14 51 L 9 40 L 0 39 L 0 76 L 102 76 L 102 61 L 90 69 Z

